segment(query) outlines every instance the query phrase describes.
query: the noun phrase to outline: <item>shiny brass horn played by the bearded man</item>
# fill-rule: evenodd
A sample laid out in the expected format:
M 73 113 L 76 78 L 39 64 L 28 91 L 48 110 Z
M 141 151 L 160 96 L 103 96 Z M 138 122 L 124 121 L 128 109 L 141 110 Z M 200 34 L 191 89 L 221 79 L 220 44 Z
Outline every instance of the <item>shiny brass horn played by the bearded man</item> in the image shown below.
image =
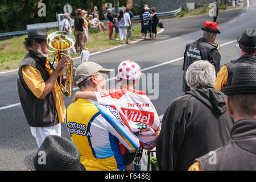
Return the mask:
M 68 63 L 70 64 L 65 66 L 63 72 L 61 72 L 59 75 L 60 89 L 68 97 L 71 97 L 73 92 L 73 73 L 75 73 L 75 68 L 73 68 L 72 58 L 64 52 L 74 46 L 75 42 L 76 40 L 74 36 L 65 31 L 56 31 L 47 36 L 47 44 L 49 47 L 55 49 L 56 64 L 59 63 L 61 56 L 64 55 L 68 57 Z M 65 80 L 63 80 L 63 76 L 66 77 Z

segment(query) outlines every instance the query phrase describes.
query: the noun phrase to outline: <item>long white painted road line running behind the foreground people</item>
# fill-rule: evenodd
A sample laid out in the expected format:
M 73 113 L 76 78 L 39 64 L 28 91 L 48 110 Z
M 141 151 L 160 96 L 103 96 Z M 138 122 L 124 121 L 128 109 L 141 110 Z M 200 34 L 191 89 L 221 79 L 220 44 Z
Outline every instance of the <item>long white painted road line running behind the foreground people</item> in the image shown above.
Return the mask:
M 220 46 L 226 46 L 226 45 L 231 44 L 231 43 L 234 43 L 234 42 L 236 42 L 236 41 L 237 41 L 237 40 L 232 40 L 232 41 L 230 41 L 230 42 L 227 42 L 227 43 L 224 43 L 224 44 L 220 44 Z M 179 57 L 179 58 L 174 59 L 174 60 L 170 60 L 170 61 L 166 61 L 166 62 L 164 62 L 164 63 L 156 64 L 156 65 L 154 65 L 154 66 L 152 66 L 152 67 L 144 68 L 144 69 L 142 69 L 141 71 L 143 72 L 143 71 L 147 71 L 148 69 L 153 69 L 153 68 L 161 67 L 162 65 L 174 63 L 174 62 L 179 61 L 179 60 L 182 60 L 182 59 L 183 59 L 183 57 Z M 108 81 L 109 81 L 109 80 L 113 80 L 113 79 L 115 79 L 115 77 L 109 78 Z M 77 90 L 77 89 L 79 89 L 79 88 L 78 88 L 78 87 L 73 88 L 73 90 Z M 11 104 L 11 105 L 9 105 L 9 106 L 0 107 L 0 110 L 9 109 L 9 108 L 11 108 L 11 107 L 16 107 L 16 106 L 18 106 L 18 105 L 20 105 L 20 102 L 19 102 L 19 103 L 16 103 L 16 104 Z

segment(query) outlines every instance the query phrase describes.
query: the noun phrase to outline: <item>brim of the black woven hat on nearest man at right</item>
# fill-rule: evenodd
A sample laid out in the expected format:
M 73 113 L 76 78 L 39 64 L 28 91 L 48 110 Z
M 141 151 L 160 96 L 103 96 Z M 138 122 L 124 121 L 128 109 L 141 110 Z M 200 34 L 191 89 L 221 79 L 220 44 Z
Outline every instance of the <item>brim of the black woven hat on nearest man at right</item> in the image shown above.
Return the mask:
M 256 93 L 255 85 L 236 85 L 236 86 L 226 86 L 222 88 L 222 92 L 227 96 L 233 94 L 250 94 Z

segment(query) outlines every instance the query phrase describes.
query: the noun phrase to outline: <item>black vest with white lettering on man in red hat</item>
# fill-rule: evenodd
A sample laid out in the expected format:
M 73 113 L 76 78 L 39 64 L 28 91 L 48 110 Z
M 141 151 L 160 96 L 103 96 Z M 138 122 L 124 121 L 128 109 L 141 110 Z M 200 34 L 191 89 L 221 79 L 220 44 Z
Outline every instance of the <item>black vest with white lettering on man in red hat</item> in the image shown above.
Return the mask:
M 183 92 L 190 90 L 185 80 L 185 72 L 189 65 L 197 60 L 208 60 L 213 64 L 216 74 L 220 71 L 221 55 L 217 47 L 205 38 L 200 38 L 191 44 L 186 45 L 183 63 Z

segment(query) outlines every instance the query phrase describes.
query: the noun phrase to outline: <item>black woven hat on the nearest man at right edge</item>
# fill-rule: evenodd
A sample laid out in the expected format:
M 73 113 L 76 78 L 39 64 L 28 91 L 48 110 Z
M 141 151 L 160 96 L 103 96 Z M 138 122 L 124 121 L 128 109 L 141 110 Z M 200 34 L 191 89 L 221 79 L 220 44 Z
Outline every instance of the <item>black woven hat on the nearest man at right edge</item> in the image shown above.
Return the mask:
M 232 94 L 252 94 L 256 93 L 256 64 L 239 65 L 232 77 L 230 86 L 222 89 L 227 96 Z

